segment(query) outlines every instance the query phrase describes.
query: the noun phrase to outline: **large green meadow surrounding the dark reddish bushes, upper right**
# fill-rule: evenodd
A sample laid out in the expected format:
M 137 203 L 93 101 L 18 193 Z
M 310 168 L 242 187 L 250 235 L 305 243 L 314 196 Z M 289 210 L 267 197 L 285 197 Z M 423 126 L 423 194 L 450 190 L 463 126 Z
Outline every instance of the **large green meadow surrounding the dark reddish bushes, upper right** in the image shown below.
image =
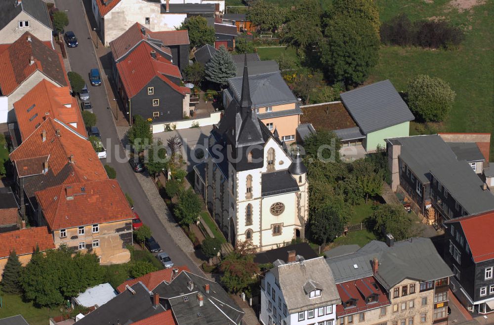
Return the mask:
M 485 1 L 463 12 L 451 8 L 449 2 L 377 0 L 381 21 L 400 12 L 407 13 L 412 21 L 444 16 L 465 31 L 465 40 L 453 51 L 383 46 L 369 82 L 389 79 L 397 90 L 406 90 L 407 81 L 417 74 L 441 78 L 456 92 L 456 100 L 449 117 L 438 125 L 438 131 L 491 133 L 494 129 L 494 41 L 491 34 L 494 20 L 489 17 L 494 13 L 494 1 Z

